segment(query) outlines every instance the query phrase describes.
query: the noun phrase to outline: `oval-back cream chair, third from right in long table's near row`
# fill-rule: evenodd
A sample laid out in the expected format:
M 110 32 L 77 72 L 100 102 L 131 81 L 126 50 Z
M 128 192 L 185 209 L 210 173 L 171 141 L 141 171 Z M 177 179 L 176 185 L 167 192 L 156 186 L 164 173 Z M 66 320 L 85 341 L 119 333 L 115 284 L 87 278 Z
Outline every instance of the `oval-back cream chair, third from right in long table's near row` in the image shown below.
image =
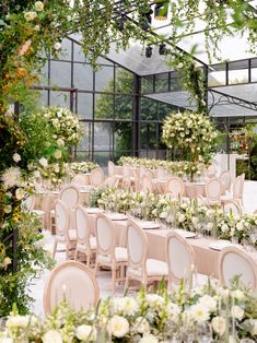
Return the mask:
M 128 222 L 127 228 L 128 269 L 125 291 L 130 280 L 138 280 L 144 287 L 150 282 L 167 281 L 167 263 L 148 258 L 148 238 L 133 221 Z

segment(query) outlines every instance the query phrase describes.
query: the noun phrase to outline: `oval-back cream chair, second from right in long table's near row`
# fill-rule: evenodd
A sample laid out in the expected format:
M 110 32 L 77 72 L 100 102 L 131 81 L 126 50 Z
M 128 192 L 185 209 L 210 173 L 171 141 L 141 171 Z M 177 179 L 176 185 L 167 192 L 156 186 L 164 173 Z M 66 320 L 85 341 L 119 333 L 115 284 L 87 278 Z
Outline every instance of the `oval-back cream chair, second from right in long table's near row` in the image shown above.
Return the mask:
M 166 260 L 171 288 L 180 280 L 185 280 L 186 283 L 191 282 L 191 285 L 207 282 L 207 275 L 196 273 L 196 253 L 191 245 L 175 232 L 168 234 L 166 238 Z

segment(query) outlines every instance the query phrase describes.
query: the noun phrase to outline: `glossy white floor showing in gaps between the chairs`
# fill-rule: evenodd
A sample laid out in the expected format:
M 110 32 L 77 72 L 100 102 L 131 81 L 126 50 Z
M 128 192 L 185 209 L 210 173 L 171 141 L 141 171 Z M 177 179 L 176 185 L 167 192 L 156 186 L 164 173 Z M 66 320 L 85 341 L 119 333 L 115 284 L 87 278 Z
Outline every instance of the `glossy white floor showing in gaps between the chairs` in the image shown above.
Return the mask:
M 257 181 L 245 181 L 244 189 L 244 211 L 245 212 L 254 212 L 257 210 Z M 52 237 L 49 232 L 45 233 L 45 247 L 47 250 L 51 251 L 52 249 Z M 65 261 L 65 253 L 57 253 L 57 262 Z M 33 298 L 35 299 L 35 304 L 33 310 L 39 315 L 44 315 L 43 309 L 43 294 L 44 294 L 44 285 L 48 277 L 49 271 L 45 271 L 42 277 L 31 287 L 31 293 Z M 97 276 L 101 297 L 107 297 L 112 295 L 110 292 L 110 274 L 109 272 L 100 272 Z M 122 295 L 122 287 L 117 287 L 116 295 Z

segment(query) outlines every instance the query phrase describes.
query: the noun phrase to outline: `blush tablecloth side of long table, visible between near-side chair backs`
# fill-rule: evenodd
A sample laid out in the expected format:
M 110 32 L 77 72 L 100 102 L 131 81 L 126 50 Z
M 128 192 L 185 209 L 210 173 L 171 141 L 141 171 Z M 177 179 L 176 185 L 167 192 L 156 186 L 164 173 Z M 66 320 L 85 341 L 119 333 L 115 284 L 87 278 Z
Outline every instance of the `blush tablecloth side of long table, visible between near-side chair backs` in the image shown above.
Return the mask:
M 89 214 L 89 221 L 92 234 L 95 234 L 96 214 Z M 127 221 L 113 221 L 116 235 L 116 244 L 126 246 L 126 232 Z M 148 258 L 159 259 L 166 261 L 165 256 L 165 241 L 166 236 L 171 233 L 171 228 L 144 229 L 148 237 Z M 188 239 L 188 238 L 187 238 Z M 219 277 L 219 257 L 220 251 L 209 248 L 213 238 L 200 237 L 190 238 L 188 241 L 191 244 L 196 252 L 196 270 L 198 273 Z M 257 270 L 257 251 L 248 252 L 256 261 Z

